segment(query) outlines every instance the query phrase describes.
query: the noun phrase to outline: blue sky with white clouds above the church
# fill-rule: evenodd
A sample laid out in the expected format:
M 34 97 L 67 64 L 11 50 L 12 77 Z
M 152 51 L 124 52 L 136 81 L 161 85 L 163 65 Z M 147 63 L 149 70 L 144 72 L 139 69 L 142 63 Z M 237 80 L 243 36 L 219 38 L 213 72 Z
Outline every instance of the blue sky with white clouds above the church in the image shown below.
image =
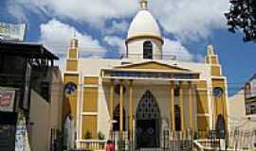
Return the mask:
M 1 0 L 0 22 L 27 24 L 27 42 L 43 42 L 61 59 L 76 33 L 83 57 L 118 58 L 138 0 Z M 227 30 L 228 0 L 149 0 L 165 40 L 164 54 L 200 61 L 213 44 L 236 92 L 256 74 L 256 46 Z M 62 61 L 61 61 L 62 62 Z

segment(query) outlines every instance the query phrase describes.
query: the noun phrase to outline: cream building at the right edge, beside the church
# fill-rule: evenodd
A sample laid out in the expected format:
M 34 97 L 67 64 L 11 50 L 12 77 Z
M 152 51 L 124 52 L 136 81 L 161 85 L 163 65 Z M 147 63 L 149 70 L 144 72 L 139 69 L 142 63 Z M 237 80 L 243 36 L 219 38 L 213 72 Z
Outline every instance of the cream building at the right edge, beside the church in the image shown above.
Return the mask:
M 236 131 L 237 146 L 255 148 L 256 75 L 239 92 L 229 97 L 229 126 Z

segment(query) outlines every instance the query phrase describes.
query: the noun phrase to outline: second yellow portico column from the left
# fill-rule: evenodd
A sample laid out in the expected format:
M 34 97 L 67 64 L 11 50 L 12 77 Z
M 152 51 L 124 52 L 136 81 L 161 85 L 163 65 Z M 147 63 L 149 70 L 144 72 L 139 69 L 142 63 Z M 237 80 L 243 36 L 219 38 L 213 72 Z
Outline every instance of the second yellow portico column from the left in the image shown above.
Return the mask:
M 119 90 L 119 141 L 122 140 L 122 127 L 123 127 L 123 81 L 120 81 Z

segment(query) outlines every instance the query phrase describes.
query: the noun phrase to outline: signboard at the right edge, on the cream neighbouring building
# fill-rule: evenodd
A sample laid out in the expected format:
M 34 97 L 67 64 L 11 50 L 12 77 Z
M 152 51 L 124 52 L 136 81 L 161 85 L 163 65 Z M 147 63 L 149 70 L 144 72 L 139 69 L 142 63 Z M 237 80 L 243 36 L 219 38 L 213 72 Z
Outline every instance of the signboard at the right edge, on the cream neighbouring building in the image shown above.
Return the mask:
M 247 115 L 256 114 L 256 76 L 253 76 L 244 86 Z

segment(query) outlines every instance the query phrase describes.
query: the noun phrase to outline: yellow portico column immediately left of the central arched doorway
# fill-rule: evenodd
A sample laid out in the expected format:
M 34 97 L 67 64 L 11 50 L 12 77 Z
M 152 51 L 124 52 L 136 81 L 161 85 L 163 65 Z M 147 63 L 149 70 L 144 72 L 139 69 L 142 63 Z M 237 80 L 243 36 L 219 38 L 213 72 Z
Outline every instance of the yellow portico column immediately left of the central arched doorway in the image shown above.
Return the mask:
M 134 100 L 133 91 L 134 85 L 133 80 L 130 80 L 130 90 L 129 90 L 129 141 L 133 140 L 133 114 L 134 114 Z

